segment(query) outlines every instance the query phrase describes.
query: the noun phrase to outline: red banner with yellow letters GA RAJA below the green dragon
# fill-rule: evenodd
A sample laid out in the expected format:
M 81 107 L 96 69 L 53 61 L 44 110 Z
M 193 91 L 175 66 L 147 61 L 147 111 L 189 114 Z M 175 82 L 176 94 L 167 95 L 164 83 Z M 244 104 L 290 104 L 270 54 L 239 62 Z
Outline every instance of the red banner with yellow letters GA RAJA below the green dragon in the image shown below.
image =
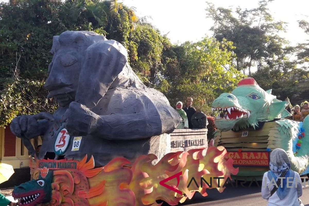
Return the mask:
M 265 151 L 228 151 L 224 158 L 232 158 L 233 166 L 269 166 L 269 152 Z

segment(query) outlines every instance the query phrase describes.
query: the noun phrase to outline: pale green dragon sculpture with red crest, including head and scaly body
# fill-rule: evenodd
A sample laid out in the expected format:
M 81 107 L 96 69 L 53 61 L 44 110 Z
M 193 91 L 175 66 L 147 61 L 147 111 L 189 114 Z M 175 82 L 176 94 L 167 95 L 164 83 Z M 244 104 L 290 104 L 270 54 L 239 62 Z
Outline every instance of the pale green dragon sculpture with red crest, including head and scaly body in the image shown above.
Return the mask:
M 263 90 L 253 78 L 241 80 L 231 93 L 221 94 L 212 103 L 213 110 L 219 112 L 215 125 L 220 135 L 215 134 L 215 145 L 224 146 L 228 151 L 237 149 L 270 151 L 282 148 L 289 155 L 292 170 L 303 174 L 309 173 L 309 139 L 304 137 L 309 131 L 309 117 L 306 117 L 303 122 L 282 119 L 290 116 L 290 113 L 285 110 L 286 105 L 286 101 L 276 99 L 276 96 L 271 94 L 271 90 Z M 229 143 L 232 143 L 230 144 L 232 146 L 229 147 L 227 141 L 223 142 L 221 139 L 222 134 L 231 129 L 241 131 L 252 128 L 255 131 L 260 124 L 267 124 L 267 122 L 275 123 L 269 127 L 269 133 L 264 140 L 260 138 L 248 143 L 251 137 L 248 139 L 237 137 L 235 138 L 237 141 L 234 142 L 231 138 Z M 246 142 L 245 147 L 243 142 Z M 267 147 L 256 146 L 263 145 L 262 143 Z M 250 147 L 253 144 L 254 146 Z M 248 171 L 247 174 L 249 173 Z

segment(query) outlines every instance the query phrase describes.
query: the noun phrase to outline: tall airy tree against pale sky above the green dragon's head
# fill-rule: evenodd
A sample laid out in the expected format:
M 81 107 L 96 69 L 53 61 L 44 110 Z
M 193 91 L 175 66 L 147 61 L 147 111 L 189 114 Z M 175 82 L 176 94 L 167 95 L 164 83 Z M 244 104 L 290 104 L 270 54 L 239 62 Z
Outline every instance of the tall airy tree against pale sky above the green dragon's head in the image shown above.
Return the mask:
M 235 48 L 232 51 L 237 57 L 236 68 L 244 74 L 248 69 L 249 76 L 254 63 L 272 59 L 280 52 L 283 44 L 287 43 L 277 35 L 284 31 L 285 23 L 275 22 L 268 12 L 267 5 L 271 1 L 262 0 L 257 8 L 251 10 L 238 7 L 235 13 L 231 9 L 215 8 L 211 3 L 208 3 L 206 9 L 206 17 L 214 20 L 211 30 L 215 38 L 234 43 Z

